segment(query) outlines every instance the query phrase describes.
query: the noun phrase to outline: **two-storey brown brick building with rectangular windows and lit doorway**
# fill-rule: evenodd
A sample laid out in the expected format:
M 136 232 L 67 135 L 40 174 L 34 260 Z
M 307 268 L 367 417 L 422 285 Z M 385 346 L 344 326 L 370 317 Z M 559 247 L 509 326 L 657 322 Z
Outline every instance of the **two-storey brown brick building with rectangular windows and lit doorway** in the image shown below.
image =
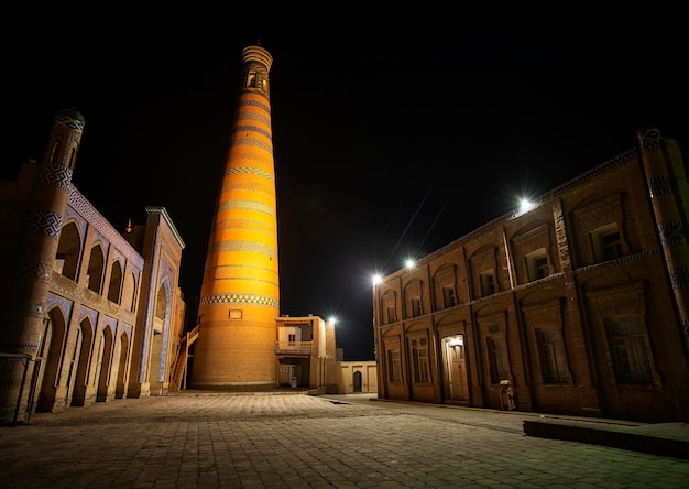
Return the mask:
M 379 398 L 689 419 L 689 186 L 675 140 L 638 139 L 384 276 Z

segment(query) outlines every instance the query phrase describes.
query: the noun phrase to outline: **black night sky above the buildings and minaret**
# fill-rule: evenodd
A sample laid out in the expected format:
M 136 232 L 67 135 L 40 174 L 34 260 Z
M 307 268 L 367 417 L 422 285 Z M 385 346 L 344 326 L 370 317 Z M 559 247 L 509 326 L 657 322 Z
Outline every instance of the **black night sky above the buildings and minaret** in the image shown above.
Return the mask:
M 3 174 L 41 159 L 53 116 L 75 107 L 74 184 L 118 229 L 167 209 L 190 302 L 241 50 L 259 41 L 274 58 L 281 313 L 336 315 L 346 359 L 373 358 L 372 272 L 634 148 L 645 126 L 689 148 L 685 30 L 668 12 L 597 24 L 544 11 L 136 13 L 8 19 Z

